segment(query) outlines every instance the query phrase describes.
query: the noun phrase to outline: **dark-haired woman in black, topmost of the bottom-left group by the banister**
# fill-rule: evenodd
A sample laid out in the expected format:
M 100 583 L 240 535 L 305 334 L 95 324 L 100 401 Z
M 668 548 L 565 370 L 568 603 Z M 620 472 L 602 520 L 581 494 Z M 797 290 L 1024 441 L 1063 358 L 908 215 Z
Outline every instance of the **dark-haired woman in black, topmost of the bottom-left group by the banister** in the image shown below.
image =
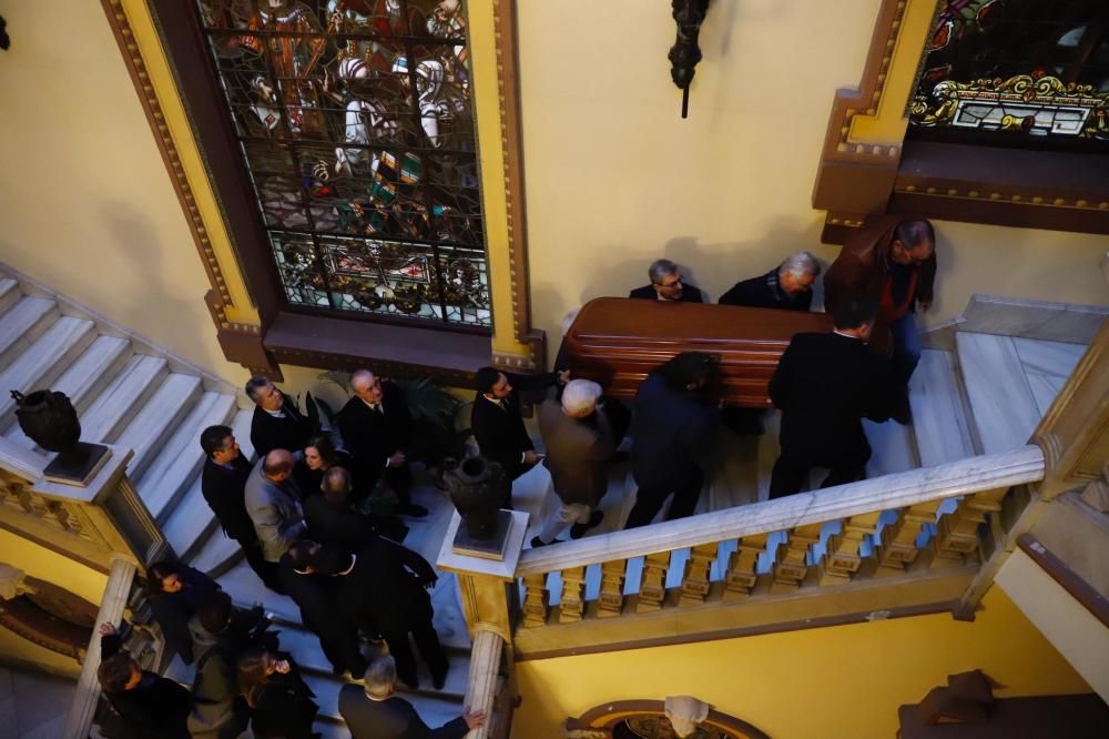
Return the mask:
M 154 620 L 162 627 L 166 647 L 180 655 L 185 665 L 193 664 L 189 619 L 220 589 L 215 580 L 187 565 L 157 561 L 146 569 L 146 598 Z

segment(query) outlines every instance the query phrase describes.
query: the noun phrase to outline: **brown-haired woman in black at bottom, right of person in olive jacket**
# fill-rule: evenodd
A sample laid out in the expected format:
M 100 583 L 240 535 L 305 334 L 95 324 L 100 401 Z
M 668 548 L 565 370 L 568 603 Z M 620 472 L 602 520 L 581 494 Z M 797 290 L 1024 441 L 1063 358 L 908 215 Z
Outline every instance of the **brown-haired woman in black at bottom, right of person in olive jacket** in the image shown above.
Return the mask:
M 238 658 L 238 688 L 251 707 L 251 728 L 257 739 L 312 739 L 319 706 L 284 651 L 248 647 Z

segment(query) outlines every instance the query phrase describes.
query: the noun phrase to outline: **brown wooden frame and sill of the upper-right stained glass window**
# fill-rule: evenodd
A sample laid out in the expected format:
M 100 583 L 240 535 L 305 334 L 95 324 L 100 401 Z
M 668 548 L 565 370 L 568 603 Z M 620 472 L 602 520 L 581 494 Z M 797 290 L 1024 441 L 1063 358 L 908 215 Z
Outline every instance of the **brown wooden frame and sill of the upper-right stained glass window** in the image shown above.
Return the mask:
M 813 207 L 827 211 L 822 240 L 842 244 L 886 213 L 1109 234 L 1107 154 L 847 141 L 851 119 L 878 107 L 907 6 L 883 0 L 859 87 L 833 102 L 813 190 Z

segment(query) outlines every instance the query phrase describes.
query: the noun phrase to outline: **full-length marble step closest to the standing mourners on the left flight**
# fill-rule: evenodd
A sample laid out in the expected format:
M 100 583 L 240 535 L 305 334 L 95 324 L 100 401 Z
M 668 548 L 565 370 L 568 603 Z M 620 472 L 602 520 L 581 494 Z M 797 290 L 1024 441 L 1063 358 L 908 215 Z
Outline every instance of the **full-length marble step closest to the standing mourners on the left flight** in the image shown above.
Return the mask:
M 193 479 L 200 476 L 204 452 L 201 432 L 213 424 L 228 422 L 235 412 L 235 397 L 224 393 L 204 393 L 189 415 L 157 451 L 157 457 L 139 478 L 136 488 L 151 515 L 161 524 L 181 499 Z

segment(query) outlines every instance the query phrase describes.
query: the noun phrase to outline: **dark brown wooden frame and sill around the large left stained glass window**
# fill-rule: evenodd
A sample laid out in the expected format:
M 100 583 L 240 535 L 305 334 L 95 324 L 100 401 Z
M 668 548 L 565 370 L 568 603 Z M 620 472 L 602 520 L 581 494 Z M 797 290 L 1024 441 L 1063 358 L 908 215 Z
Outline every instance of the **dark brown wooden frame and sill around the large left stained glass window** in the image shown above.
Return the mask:
M 386 374 L 417 373 L 455 385 L 470 385 L 474 371 L 495 358 L 490 332 L 486 327 L 436 325 L 414 318 L 385 316 L 367 321 L 340 311 L 305 310 L 286 303 L 192 4 L 186 0 L 147 0 L 261 325 L 234 324 L 226 320 L 223 308 L 231 303 L 231 298 L 181 161 L 169 138 L 126 14 L 120 0 L 102 0 L 102 4 L 204 260 L 213 287 L 205 301 L 226 358 L 253 373 L 277 379 L 281 378 L 282 363 L 323 368 L 354 368 L 368 363 Z M 506 3 L 496 20 L 500 31 L 499 57 L 507 60 L 501 71 L 501 84 L 509 87 L 516 83 L 513 3 Z M 518 97 L 515 90 L 511 92 L 505 97 L 516 104 Z M 515 202 L 509 203 L 510 217 L 517 216 L 522 221 L 522 163 L 518 153 L 511 155 L 520 146 L 519 117 L 515 110 L 502 110 L 501 114 L 506 121 L 501 143 L 510 160 L 506 165 L 506 179 L 511 180 L 510 190 L 515 195 Z M 526 296 L 526 244 L 519 230 L 511 252 L 513 296 Z M 545 342 L 541 332 L 530 327 L 527 297 L 513 301 L 512 316 L 512 333 L 532 345 L 533 361 L 541 364 Z

